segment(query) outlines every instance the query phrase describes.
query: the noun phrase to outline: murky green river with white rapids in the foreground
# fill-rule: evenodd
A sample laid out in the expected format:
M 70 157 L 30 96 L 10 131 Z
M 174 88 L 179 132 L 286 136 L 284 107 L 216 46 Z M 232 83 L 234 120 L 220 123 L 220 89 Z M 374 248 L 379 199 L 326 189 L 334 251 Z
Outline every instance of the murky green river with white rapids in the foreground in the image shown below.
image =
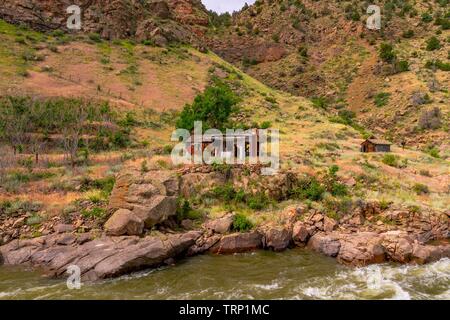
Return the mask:
M 426 266 L 349 268 L 304 249 L 203 255 L 96 284 L 0 267 L 0 299 L 445 299 L 450 259 Z

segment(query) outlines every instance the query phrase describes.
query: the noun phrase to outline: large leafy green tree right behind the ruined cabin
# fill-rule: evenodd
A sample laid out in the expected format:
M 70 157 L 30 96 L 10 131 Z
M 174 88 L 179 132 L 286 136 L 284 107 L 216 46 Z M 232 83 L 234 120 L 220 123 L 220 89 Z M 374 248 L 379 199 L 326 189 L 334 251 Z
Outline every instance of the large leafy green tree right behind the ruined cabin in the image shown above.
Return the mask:
M 224 83 L 216 83 L 187 104 L 178 118 L 177 128 L 193 130 L 195 121 L 203 122 L 203 129 L 223 130 L 239 99 Z

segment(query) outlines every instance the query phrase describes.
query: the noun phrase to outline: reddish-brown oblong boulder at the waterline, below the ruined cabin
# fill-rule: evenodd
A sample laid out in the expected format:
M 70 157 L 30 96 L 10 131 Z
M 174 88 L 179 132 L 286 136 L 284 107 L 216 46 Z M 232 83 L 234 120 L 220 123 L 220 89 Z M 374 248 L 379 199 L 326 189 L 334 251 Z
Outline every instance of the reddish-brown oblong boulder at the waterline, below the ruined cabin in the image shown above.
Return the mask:
M 217 254 L 230 254 L 253 251 L 262 248 L 262 239 L 263 236 L 256 231 L 248 233 L 234 233 L 222 237 L 222 239 L 211 247 L 210 252 Z

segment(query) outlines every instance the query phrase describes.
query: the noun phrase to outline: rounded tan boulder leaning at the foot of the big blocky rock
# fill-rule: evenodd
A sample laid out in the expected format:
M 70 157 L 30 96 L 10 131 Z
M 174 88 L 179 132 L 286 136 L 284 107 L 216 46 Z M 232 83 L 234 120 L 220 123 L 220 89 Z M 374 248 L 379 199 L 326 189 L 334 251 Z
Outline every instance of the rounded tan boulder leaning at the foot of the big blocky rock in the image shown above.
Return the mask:
M 138 236 L 144 232 L 144 221 L 130 210 L 119 209 L 105 223 L 105 231 L 111 236 Z

